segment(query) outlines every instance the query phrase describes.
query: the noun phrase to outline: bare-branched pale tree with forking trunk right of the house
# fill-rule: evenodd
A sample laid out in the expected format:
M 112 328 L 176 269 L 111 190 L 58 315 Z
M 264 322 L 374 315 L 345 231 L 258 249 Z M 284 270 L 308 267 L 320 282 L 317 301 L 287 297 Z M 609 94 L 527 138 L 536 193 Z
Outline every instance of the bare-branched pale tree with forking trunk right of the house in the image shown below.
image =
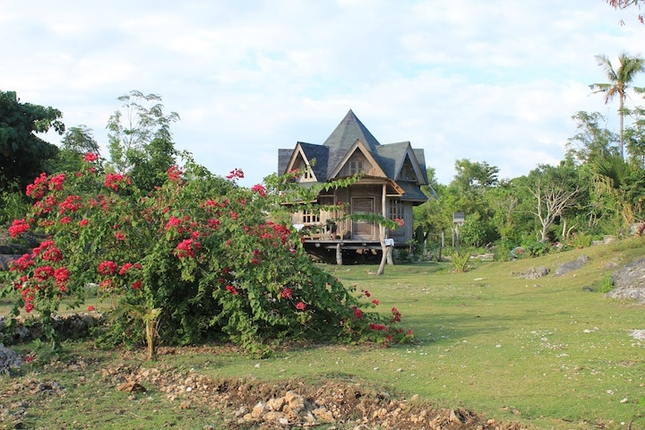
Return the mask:
M 541 165 L 528 176 L 529 193 L 535 198 L 533 215 L 540 223 L 539 241 L 546 242 L 549 228 L 574 207 L 581 186 L 573 168 Z

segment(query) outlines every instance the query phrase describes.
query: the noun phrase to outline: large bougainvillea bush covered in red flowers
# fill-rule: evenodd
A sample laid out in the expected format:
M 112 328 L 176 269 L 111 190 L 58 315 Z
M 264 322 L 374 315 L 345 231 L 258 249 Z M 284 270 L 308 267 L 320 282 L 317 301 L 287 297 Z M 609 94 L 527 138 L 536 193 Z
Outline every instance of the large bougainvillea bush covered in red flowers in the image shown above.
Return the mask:
M 14 314 L 23 308 L 47 325 L 62 298 L 80 304 L 93 283 L 112 304 L 101 339 L 145 340 L 150 358 L 157 340 L 257 348 L 283 339 L 411 339 L 396 328 L 398 312 L 366 312 L 378 302 L 353 296 L 311 262 L 295 229 L 271 220 L 280 219 L 271 218 L 284 195 L 277 188 L 248 189 L 236 184 L 239 169 L 221 178 L 188 164 L 142 193 L 128 176 L 98 173 L 97 162 L 88 154 L 82 172 L 41 175 L 27 188 L 33 209 L 10 232 L 47 238 L 11 268 L 21 293 Z

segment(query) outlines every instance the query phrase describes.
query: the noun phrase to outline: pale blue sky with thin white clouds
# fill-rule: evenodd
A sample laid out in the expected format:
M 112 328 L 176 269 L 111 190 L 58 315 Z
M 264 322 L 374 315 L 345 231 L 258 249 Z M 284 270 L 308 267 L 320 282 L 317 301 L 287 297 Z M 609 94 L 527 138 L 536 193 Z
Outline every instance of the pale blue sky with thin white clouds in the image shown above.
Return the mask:
M 578 111 L 617 133 L 617 100 L 589 84 L 606 82 L 595 56 L 643 54 L 637 15 L 604 0 L 7 1 L 0 90 L 87 126 L 104 157 L 117 98 L 157 94 L 181 118 L 176 148 L 241 168 L 241 185 L 349 109 L 382 144 L 425 150 L 440 184 L 458 159 L 504 179 L 563 159 Z

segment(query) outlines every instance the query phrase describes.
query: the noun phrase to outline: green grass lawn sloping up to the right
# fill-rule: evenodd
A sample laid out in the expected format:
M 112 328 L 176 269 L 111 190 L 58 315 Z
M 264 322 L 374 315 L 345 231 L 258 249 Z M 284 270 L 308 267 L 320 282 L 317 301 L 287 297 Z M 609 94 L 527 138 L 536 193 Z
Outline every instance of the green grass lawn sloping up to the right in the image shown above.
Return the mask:
M 626 429 L 630 422 L 632 429 L 645 428 L 645 345 L 630 333 L 645 329 L 645 306 L 609 300 L 598 292 L 608 274 L 645 256 L 643 245 L 641 239 L 631 239 L 539 259 L 477 262 L 464 273 L 453 273 L 449 262 L 388 266 L 383 276 L 371 274 L 371 266 L 327 266 L 346 285 L 368 289 L 380 301 L 380 312 L 389 314 L 396 306 L 402 325 L 413 329 L 415 343 L 288 348 L 265 360 L 227 349 L 216 356 L 197 351 L 161 355 L 158 365 L 192 368 L 212 378 L 356 381 L 538 429 Z M 589 256 L 583 268 L 553 275 L 580 254 Z M 537 280 L 517 276 L 538 266 L 551 274 Z M 101 366 L 125 360 L 118 352 L 96 351 L 89 344 L 68 348 L 99 356 Z M 36 366 L 24 366 L 13 378 L 47 374 Z M 0 391 L 13 378 L 0 378 Z M 45 413 L 82 413 L 82 403 L 68 402 L 64 409 L 54 405 Z M 144 422 L 137 426 L 136 416 L 142 414 L 133 411 L 127 417 L 131 428 L 153 428 Z

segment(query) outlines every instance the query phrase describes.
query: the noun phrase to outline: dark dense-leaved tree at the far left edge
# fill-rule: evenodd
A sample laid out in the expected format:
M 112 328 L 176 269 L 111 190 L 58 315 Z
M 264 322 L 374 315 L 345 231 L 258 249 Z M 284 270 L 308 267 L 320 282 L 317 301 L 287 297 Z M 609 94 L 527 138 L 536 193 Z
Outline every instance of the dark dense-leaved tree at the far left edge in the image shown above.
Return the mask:
M 19 186 L 24 189 L 56 157 L 56 145 L 35 133 L 54 128 L 64 133 L 63 116 L 53 107 L 21 103 L 15 91 L 0 91 L 0 189 Z

